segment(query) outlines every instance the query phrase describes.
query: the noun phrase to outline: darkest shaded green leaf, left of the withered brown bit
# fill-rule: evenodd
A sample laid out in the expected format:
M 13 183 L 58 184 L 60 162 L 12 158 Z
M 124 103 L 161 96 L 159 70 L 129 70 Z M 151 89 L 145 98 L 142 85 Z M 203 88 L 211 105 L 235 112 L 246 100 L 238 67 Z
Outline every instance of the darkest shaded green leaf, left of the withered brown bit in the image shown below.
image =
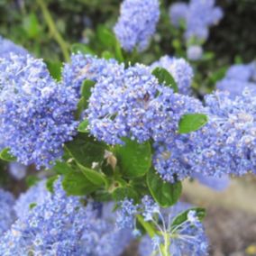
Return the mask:
M 78 133 L 72 142 L 66 144 L 66 149 L 78 164 L 91 168 L 93 162 L 104 160 L 105 144 L 97 142 L 87 133 Z

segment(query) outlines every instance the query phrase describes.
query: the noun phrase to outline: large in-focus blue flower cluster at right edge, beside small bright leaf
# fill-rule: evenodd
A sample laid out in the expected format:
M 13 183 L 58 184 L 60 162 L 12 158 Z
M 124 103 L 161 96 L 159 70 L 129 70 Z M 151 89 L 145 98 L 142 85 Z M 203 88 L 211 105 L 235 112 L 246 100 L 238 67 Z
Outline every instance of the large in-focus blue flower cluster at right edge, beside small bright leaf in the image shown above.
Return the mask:
M 206 96 L 209 121 L 189 136 L 192 172 L 213 177 L 255 172 L 255 102 L 250 90 L 234 100 L 224 93 Z

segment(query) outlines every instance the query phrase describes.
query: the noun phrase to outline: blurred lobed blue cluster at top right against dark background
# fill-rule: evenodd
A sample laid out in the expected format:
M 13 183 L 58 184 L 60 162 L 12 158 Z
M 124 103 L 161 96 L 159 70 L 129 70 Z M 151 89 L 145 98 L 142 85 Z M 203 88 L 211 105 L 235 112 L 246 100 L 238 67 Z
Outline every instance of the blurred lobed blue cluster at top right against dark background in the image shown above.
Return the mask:
M 176 3 L 170 6 L 171 23 L 178 27 L 180 21 L 186 24 L 187 41 L 206 41 L 209 27 L 218 23 L 223 17 L 220 7 L 215 7 L 215 0 L 190 0 L 189 4 Z

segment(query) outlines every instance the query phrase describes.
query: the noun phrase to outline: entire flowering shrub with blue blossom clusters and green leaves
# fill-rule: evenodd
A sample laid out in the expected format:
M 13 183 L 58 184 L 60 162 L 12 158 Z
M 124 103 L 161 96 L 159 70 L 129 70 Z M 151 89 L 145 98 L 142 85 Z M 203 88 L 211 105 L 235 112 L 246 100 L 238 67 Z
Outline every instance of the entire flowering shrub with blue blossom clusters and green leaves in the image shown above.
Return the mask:
M 215 72 L 207 95 L 199 85 L 222 9 L 191 0 L 168 17 L 158 0 L 124 0 L 114 23 L 69 47 L 36 5 L 65 61 L 0 39 L 0 158 L 31 186 L 0 191 L 0 254 L 121 255 L 137 239 L 142 256 L 209 255 L 206 211 L 180 202 L 182 182 L 223 190 L 256 173 L 255 63 Z M 166 17 L 171 55 L 158 50 Z

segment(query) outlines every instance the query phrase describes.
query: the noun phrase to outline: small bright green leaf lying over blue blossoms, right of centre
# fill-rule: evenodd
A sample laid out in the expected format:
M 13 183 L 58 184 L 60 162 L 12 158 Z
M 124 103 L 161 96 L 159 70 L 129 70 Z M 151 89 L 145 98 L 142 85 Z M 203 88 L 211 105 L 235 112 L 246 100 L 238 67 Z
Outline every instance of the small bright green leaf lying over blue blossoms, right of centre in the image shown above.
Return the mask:
M 178 133 L 195 132 L 208 122 L 206 114 L 184 114 L 178 123 Z

